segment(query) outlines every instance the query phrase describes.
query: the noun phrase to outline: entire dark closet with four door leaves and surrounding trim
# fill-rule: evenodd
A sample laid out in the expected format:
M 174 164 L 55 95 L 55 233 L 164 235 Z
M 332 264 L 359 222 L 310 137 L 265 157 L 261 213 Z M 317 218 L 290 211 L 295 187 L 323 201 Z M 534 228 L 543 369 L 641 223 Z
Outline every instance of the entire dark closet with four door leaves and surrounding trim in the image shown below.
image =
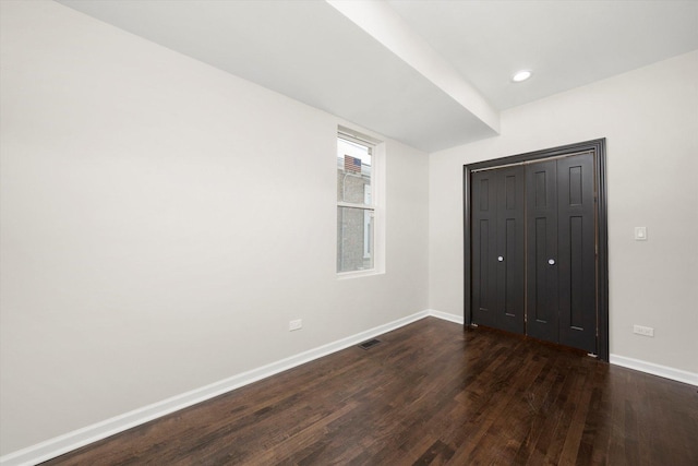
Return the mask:
M 607 359 L 604 146 L 466 166 L 467 324 Z

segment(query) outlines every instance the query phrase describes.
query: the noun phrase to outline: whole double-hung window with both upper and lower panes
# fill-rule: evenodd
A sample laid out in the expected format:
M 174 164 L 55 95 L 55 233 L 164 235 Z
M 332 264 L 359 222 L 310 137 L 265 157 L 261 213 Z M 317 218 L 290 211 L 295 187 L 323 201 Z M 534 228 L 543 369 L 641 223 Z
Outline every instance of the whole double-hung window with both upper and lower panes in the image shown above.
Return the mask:
M 375 273 L 377 141 L 337 135 L 337 273 Z

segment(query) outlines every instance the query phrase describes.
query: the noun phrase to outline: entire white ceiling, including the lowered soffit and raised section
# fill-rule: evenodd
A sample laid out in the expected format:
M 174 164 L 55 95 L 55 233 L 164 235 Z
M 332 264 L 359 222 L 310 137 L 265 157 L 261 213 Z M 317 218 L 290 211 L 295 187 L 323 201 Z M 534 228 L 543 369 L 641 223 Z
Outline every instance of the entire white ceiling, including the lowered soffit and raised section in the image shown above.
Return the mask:
M 698 49 L 698 1 L 58 0 L 424 151 Z M 515 84 L 510 75 L 533 70 Z

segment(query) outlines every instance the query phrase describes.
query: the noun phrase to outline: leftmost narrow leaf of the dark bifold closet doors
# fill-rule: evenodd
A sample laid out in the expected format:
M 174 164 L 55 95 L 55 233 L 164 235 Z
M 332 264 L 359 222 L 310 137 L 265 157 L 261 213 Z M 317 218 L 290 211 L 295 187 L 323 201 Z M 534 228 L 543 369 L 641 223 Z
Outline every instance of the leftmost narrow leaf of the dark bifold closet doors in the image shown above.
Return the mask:
M 472 322 L 496 326 L 496 174 L 472 175 Z

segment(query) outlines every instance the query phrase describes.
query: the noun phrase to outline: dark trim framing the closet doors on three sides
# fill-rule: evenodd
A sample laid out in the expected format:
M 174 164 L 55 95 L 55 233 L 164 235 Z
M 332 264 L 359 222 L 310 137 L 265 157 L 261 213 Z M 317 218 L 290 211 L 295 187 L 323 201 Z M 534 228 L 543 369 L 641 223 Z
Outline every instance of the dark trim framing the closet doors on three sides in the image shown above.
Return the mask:
M 579 152 L 593 152 L 594 179 L 597 187 L 597 356 L 609 361 L 609 228 L 606 207 L 606 140 L 605 138 L 528 152 L 508 157 L 494 158 L 474 164 L 464 165 L 464 259 L 465 259 L 465 325 L 472 324 L 472 274 L 471 274 L 471 237 L 470 237 L 470 175 L 474 170 L 496 168 L 505 165 L 542 162 L 547 158 L 562 157 Z

